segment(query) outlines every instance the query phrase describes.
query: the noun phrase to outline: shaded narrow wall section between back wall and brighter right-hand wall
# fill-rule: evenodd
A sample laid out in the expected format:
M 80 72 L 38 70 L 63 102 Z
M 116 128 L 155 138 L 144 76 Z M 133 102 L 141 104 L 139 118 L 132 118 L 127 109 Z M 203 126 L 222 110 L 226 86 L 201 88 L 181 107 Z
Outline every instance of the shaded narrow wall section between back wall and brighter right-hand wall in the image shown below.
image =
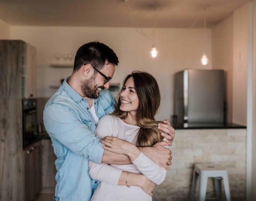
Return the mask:
M 233 15 L 212 28 L 212 68 L 224 69 L 227 122 L 233 121 Z

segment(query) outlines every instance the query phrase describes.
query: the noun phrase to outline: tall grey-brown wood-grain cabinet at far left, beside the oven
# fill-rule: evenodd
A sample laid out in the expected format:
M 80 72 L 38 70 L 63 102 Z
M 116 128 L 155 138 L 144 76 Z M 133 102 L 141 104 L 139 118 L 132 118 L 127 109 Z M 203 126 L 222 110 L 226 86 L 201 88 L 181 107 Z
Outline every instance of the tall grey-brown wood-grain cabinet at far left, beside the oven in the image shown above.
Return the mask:
M 0 200 L 24 201 L 22 99 L 37 95 L 35 48 L 19 40 L 0 40 L 0 71 Z

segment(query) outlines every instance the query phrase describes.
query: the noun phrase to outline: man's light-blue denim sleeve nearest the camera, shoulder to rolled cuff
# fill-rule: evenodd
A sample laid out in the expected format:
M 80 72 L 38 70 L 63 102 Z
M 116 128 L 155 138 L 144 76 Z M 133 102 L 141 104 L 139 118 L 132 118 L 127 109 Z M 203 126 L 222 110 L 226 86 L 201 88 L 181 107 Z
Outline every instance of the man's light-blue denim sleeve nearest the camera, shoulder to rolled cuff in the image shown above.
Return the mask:
M 76 154 L 101 163 L 104 149 L 98 137 L 78 120 L 67 106 L 53 103 L 44 110 L 44 125 L 50 137 Z

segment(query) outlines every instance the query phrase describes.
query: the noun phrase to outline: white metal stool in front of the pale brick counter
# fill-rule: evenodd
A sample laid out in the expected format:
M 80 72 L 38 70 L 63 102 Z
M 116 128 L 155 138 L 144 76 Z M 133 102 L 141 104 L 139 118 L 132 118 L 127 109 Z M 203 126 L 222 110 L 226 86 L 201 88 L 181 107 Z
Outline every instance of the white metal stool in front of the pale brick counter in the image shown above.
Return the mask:
M 221 181 L 223 179 L 226 200 L 230 201 L 229 178 L 227 175 L 227 170 L 225 170 L 224 167 L 222 167 L 219 164 L 211 164 L 211 163 L 197 163 L 195 165 L 195 170 L 193 172 L 192 189 L 191 189 L 191 201 L 195 201 L 196 183 L 197 183 L 198 177 L 200 177 L 199 201 L 204 201 L 206 199 L 208 177 L 214 178 L 216 197 L 218 201 L 222 200 Z

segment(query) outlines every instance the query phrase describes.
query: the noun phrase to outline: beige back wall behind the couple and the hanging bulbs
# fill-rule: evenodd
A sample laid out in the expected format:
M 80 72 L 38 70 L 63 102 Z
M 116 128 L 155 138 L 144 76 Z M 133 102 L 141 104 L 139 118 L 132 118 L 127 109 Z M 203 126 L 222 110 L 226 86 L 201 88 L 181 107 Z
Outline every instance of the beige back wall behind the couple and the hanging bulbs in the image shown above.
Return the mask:
M 152 37 L 152 29 L 143 29 Z M 22 39 L 37 49 L 38 96 L 49 97 L 55 90 L 50 85 L 59 85 L 60 79 L 71 75 L 72 69 L 50 68 L 56 53 L 75 54 L 79 46 L 90 41 L 100 41 L 116 52 L 120 64 L 113 82 L 122 83 L 133 70 L 147 71 L 158 81 L 161 90 L 161 109 L 157 119 L 170 120 L 173 114 L 173 75 L 184 68 L 211 69 L 211 30 L 203 29 L 157 29 L 156 47 L 159 55 L 151 58 L 152 41 L 133 28 L 100 27 L 34 27 L 11 26 L 11 39 Z M 200 64 L 206 52 L 210 63 Z

